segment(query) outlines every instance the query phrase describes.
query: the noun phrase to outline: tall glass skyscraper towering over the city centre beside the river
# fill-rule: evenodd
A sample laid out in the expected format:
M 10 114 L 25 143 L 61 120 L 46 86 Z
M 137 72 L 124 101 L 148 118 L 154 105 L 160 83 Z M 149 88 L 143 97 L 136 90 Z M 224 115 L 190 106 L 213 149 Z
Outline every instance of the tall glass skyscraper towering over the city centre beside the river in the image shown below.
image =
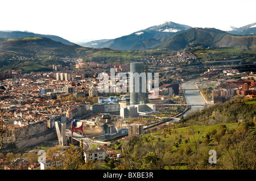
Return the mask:
M 148 103 L 147 68 L 142 62 L 130 64 L 130 105 Z

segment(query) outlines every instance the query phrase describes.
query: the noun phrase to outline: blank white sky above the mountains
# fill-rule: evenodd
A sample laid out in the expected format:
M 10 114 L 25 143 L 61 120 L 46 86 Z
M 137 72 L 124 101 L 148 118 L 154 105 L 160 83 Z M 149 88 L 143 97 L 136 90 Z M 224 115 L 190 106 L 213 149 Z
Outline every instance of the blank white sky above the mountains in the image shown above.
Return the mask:
M 172 21 L 226 30 L 256 22 L 255 0 L 1 0 L 0 30 L 78 43 L 114 39 Z

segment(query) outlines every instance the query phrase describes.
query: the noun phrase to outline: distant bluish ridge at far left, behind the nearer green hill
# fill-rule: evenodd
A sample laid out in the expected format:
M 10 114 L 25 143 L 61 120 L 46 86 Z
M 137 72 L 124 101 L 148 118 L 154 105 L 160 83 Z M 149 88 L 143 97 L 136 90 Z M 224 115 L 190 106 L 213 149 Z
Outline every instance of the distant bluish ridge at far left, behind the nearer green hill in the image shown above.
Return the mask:
M 42 35 L 38 33 L 32 33 L 27 31 L 0 31 L 0 37 L 4 37 L 6 39 L 20 39 L 23 37 L 46 37 L 48 39 L 59 41 L 66 45 L 74 44 L 68 40 L 63 39 L 62 37 L 55 36 L 55 35 Z

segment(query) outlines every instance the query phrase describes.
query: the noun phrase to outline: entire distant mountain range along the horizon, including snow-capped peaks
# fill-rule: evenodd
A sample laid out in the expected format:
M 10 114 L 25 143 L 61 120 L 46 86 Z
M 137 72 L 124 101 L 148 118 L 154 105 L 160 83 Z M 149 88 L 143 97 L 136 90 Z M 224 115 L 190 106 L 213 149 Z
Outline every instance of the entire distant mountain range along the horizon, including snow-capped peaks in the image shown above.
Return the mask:
M 240 35 L 240 36 L 238 36 Z M 241 36 L 247 37 L 241 37 Z M 230 27 L 229 31 L 214 28 L 193 28 L 184 24 L 171 21 L 144 30 L 133 32 L 130 35 L 115 39 L 94 40 L 87 43 L 77 43 L 87 48 L 110 48 L 115 50 L 146 50 L 201 47 L 237 47 L 254 48 L 256 23 L 236 28 Z M 20 39 L 23 37 L 45 37 L 65 45 L 72 45 L 68 40 L 55 35 L 42 35 L 28 31 L 0 31 L 0 37 L 6 39 Z M 239 40 L 239 41 L 238 41 Z

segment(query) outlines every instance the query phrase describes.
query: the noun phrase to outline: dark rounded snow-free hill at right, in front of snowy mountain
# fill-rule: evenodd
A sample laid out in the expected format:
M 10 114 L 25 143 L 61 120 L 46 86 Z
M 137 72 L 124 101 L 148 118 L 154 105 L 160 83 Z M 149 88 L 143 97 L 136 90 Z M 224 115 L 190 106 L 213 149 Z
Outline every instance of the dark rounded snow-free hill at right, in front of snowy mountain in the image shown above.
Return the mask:
M 255 49 L 256 36 L 231 35 L 215 28 L 192 28 L 188 31 L 172 36 L 166 42 L 154 48 L 181 50 L 196 47 L 239 47 Z

